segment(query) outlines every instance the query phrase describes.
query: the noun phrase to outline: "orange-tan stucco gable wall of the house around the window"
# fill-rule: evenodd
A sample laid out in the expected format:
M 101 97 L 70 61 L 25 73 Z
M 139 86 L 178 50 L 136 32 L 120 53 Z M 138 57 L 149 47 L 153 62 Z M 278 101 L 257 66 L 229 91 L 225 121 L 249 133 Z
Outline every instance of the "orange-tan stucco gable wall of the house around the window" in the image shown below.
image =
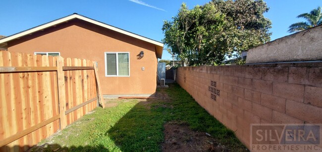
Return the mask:
M 80 20 L 10 41 L 8 51 L 60 52 L 64 58 L 97 61 L 103 94 L 153 94 L 156 91 L 158 60 L 154 44 Z M 144 51 L 144 57 L 137 59 L 140 51 Z M 104 52 L 130 52 L 130 76 L 106 77 Z

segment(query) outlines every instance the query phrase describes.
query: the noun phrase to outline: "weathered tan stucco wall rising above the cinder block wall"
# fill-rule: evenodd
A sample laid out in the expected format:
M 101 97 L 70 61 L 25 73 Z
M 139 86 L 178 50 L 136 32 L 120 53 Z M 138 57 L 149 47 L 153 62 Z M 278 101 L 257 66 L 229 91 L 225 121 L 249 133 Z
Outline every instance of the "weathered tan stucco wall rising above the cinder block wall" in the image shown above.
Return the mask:
M 322 25 L 248 50 L 246 63 L 322 60 Z

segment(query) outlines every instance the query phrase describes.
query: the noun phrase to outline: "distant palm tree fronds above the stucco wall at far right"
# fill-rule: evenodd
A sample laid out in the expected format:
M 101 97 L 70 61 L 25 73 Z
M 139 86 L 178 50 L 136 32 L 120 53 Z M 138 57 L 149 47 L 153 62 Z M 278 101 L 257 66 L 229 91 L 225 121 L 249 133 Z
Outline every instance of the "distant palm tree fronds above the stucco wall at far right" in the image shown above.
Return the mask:
M 303 30 L 307 30 L 314 26 L 318 26 L 322 24 L 322 12 L 321 7 L 319 6 L 317 9 L 313 9 L 310 13 L 303 13 L 297 16 L 297 18 L 304 18 L 307 22 L 297 22 L 290 25 L 287 32 L 299 32 Z

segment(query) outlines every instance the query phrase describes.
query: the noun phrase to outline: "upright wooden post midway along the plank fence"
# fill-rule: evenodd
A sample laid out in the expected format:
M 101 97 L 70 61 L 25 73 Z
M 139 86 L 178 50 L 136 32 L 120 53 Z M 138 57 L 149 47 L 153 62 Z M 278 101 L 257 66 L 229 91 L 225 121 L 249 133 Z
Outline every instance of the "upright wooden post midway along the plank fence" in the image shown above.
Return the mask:
M 58 103 L 60 114 L 60 130 L 67 126 L 65 110 L 66 110 L 66 94 L 65 94 L 65 78 L 62 66 L 64 65 L 64 59 L 61 56 L 57 58 L 57 80 L 58 80 Z

